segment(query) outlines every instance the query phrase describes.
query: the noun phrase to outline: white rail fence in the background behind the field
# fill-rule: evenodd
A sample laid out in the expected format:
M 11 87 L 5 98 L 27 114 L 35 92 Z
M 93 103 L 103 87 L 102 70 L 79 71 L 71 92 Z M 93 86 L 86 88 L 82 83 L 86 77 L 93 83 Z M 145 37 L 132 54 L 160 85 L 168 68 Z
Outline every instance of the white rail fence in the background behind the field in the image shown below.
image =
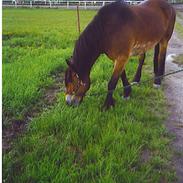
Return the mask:
M 143 0 L 126 0 L 128 4 L 138 4 Z M 62 1 L 62 0 L 3 0 L 3 7 L 27 7 L 27 8 L 67 8 L 79 6 L 83 9 L 97 9 L 114 1 Z M 183 0 L 169 0 L 170 3 L 183 3 Z

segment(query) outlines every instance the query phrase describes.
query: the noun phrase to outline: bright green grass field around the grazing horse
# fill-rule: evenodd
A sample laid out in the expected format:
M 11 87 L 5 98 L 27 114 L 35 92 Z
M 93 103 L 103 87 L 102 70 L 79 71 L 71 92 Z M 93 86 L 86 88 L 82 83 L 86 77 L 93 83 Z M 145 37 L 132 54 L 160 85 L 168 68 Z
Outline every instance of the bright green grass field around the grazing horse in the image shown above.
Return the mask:
M 96 14 L 81 11 L 83 28 Z M 22 119 L 64 71 L 78 33 L 76 12 L 3 9 L 3 125 Z M 127 65 L 133 78 L 137 59 Z M 148 54 L 142 80 L 152 77 Z M 112 63 L 102 55 L 95 64 L 89 93 L 103 92 Z M 86 97 L 78 108 L 65 105 L 60 93 L 52 108 L 28 124 L 3 155 L 3 181 L 28 182 L 172 182 L 171 152 L 163 120 L 165 98 L 152 84 L 134 87 L 131 100 L 115 92 L 116 107 L 101 112 L 105 93 Z

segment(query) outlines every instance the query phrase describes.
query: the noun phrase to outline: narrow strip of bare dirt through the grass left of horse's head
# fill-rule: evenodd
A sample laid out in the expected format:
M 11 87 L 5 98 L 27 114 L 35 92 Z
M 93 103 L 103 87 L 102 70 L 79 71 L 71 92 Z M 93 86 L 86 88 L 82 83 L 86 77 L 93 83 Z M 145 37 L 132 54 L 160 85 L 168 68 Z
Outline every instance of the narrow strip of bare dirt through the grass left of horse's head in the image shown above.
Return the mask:
M 53 75 L 54 83 L 52 86 L 43 89 L 41 99 L 24 114 L 22 120 L 9 119 L 9 125 L 3 126 L 2 134 L 2 149 L 3 152 L 10 151 L 13 140 L 22 135 L 31 120 L 39 116 L 44 110 L 53 106 L 57 101 L 57 94 L 64 90 L 63 88 L 63 73 L 59 72 Z

